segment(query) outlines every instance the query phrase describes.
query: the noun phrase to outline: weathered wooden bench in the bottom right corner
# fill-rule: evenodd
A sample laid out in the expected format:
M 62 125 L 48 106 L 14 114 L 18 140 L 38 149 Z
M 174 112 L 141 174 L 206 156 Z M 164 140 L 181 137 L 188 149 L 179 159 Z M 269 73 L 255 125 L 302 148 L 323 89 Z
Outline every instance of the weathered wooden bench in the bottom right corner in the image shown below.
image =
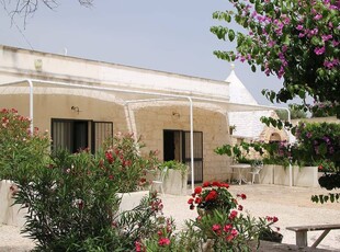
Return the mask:
M 296 227 L 286 227 L 286 229 L 291 231 L 295 231 L 296 245 L 298 247 L 307 247 L 307 232 L 308 231 L 324 230 L 324 232 L 319 236 L 319 238 L 311 245 L 311 248 L 316 248 L 324 240 L 324 238 L 330 232 L 330 230 L 340 229 L 340 224 L 296 226 Z

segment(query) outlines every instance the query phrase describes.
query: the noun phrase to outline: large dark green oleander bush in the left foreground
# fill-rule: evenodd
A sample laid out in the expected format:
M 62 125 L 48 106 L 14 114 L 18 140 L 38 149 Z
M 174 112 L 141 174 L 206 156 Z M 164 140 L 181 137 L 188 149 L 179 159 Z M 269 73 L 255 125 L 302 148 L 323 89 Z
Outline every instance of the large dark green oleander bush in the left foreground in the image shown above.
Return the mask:
M 18 181 L 15 203 L 27 209 L 23 232 L 38 251 L 128 251 L 149 236 L 161 203 L 146 198 L 118 214 L 125 186 L 103 157 L 87 150 L 57 152 L 49 165 L 36 167 L 34 176 Z

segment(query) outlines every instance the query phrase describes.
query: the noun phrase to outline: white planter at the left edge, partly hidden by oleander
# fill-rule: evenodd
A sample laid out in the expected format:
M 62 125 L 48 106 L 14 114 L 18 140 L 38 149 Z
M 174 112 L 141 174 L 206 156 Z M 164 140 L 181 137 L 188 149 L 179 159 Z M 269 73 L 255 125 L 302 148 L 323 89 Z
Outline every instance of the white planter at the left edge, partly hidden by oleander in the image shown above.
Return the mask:
M 0 224 L 22 227 L 27 211 L 26 209 L 20 209 L 21 206 L 18 204 L 13 205 L 13 190 L 11 190 L 11 186 L 15 186 L 12 181 L 0 181 Z

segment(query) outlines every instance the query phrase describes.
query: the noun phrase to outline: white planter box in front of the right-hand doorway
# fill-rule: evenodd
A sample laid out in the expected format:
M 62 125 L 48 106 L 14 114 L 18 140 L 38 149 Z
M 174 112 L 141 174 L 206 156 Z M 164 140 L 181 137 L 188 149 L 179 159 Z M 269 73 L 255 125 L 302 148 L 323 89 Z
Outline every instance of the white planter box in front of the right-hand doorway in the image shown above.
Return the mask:
M 163 181 L 163 190 L 166 194 L 186 195 L 188 174 L 182 175 L 182 171 L 169 169 Z

